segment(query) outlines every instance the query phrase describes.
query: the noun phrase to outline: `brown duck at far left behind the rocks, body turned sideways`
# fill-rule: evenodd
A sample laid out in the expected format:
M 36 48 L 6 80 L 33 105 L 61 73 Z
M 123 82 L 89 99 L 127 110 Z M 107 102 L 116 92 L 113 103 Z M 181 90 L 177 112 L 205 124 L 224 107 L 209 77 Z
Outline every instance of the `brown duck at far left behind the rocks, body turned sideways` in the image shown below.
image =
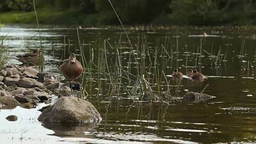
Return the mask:
M 15 57 L 16 60 L 22 62 L 23 64 L 35 64 L 38 65 L 40 64 L 40 57 L 41 57 L 41 51 L 39 50 L 34 50 L 33 52 L 30 53 L 25 53 L 25 54 L 19 54 Z M 43 57 L 43 61 L 44 61 L 44 56 Z

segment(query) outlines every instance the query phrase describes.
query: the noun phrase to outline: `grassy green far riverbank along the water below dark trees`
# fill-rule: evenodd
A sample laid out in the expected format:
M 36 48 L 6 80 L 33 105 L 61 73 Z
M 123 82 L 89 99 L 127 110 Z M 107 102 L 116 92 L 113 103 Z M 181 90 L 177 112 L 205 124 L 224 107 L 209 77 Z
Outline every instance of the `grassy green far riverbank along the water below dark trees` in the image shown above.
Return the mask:
M 58 25 L 83 25 L 83 26 L 106 26 L 106 25 L 120 25 L 118 19 L 111 15 L 105 16 L 100 13 L 93 14 L 83 14 L 80 11 L 58 11 L 54 9 L 39 9 L 36 11 L 38 16 L 39 24 L 58 24 Z M 122 18 L 121 18 L 122 21 Z M 0 22 L 2 24 L 37 24 L 36 14 L 32 12 L 5 12 L 0 15 Z M 126 25 L 126 23 L 123 23 Z M 129 25 L 138 25 L 138 22 L 135 24 Z M 207 21 L 198 21 L 192 20 L 190 17 L 179 17 L 174 14 L 163 14 L 156 16 L 148 24 L 139 24 L 139 25 L 163 25 L 163 26 L 242 26 L 242 25 L 254 25 L 254 21 L 250 20 L 207 20 Z

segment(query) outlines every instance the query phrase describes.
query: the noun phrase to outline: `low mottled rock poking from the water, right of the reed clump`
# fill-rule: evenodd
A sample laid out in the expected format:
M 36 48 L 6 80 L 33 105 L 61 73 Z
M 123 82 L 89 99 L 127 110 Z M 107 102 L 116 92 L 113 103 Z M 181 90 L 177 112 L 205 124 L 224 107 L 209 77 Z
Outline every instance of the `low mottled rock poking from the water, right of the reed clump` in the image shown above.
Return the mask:
M 211 98 L 216 98 L 216 96 L 210 96 L 208 94 L 201 94 L 198 92 L 187 92 L 182 99 L 188 102 L 199 102 L 199 101 L 208 100 Z

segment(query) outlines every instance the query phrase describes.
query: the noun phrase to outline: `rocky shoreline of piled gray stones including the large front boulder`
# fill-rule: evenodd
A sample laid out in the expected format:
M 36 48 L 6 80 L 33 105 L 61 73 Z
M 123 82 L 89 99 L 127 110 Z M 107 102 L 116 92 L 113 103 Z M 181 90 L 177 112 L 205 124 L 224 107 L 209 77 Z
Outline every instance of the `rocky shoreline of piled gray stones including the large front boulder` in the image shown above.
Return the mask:
M 39 102 L 50 103 L 52 94 L 57 102 L 40 109 L 39 121 L 45 123 L 91 123 L 102 118 L 96 108 L 82 99 L 79 82 L 62 82 L 63 77 L 38 72 L 27 67 L 8 65 L 0 70 L 0 109 L 36 108 Z M 72 92 L 70 91 L 72 86 Z

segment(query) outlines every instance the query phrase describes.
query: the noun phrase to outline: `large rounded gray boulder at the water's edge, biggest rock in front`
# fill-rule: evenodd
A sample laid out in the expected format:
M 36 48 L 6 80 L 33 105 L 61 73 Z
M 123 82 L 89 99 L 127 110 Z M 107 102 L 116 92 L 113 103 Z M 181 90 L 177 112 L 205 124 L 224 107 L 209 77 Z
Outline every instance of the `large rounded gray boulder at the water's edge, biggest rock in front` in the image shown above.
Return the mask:
M 100 113 L 88 101 L 74 97 L 61 97 L 42 111 L 38 121 L 44 123 L 94 123 L 102 120 Z

